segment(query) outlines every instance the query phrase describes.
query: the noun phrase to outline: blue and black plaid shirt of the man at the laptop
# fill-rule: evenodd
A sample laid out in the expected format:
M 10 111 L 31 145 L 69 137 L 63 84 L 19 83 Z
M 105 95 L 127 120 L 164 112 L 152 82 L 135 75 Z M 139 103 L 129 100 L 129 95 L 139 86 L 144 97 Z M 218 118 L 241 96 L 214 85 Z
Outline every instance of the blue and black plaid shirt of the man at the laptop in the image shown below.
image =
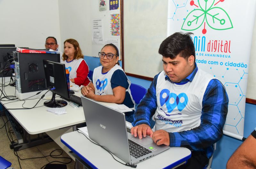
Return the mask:
M 183 85 L 193 82 L 197 70 L 196 65 L 194 71 L 187 78 L 176 84 Z M 157 108 L 156 82 L 158 75 L 154 77 L 148 92 L 136 108 L 133 126 L 139 124 L 150 126 L 150 118 L 155 114 Z M 165 77 L 165 80 L 170 81 L 168 76 Z M 173 82 L 170 81 L 170 83 Z M 212 79 L 209 82 L 202 105 L 200 126 L 187 131 L 169 132 L 170 147 L 186 147 L 189 150 L 205 151 L 207 157 L 210 158 L 213 154 L 213 144 L 223 135 L 222 129 L 228 113 L 228 95 L 219 80 Z

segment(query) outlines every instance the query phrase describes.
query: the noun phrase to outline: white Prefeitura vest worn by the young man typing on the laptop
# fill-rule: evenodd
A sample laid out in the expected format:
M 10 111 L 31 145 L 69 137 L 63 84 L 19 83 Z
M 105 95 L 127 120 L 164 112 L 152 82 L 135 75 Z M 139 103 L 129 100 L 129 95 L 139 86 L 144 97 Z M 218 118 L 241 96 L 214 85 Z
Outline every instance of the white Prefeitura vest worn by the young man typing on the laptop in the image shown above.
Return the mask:
M 180 132 L 198 127 L 205 90 L 215 78 L 198 69 L 192 82 L 178 85 L 165 80 L 165 76 L 163 71 L 157 78 L 157 109 L 153 116 L 155 130 Z

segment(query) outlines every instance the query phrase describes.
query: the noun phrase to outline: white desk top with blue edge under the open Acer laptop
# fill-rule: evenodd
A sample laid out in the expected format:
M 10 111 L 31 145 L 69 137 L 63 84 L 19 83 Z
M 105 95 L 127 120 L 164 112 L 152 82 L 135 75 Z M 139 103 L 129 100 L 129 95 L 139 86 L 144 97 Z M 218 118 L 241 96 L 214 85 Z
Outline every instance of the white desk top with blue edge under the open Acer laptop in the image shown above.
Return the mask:
M 85 136 L 77 131 L 66 133 L 61 136 L 61 142 L 72 150 L 78 157 L 84 160 L 92 168 L 118 168 L 129 169 L 130 167 L 116 162 L 113 157 L 100 146 L 90 142 Z M 191 151 L 184 147 L 171 147 L 170 149 L 148 158 L 137 164 L 137 168 L 157 169 L 173 168 L 188 160 Z M 114 155 L 116 159 L 120 160 Z

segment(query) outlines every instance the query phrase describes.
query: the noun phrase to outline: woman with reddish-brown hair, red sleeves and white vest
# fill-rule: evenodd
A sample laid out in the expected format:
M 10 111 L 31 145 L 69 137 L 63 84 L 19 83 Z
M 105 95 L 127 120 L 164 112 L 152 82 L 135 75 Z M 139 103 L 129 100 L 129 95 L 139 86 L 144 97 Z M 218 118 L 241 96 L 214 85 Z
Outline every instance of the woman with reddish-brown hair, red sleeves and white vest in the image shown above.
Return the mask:
M 86 86 L 90 83 L 89 67 L 84 60 L 79 43 L 75 39 L 67 39 L 64 42 L 64 53 L 60 63 L 65 64 L 66 69 L 68 69 L 71 82 L 78 86 Z

